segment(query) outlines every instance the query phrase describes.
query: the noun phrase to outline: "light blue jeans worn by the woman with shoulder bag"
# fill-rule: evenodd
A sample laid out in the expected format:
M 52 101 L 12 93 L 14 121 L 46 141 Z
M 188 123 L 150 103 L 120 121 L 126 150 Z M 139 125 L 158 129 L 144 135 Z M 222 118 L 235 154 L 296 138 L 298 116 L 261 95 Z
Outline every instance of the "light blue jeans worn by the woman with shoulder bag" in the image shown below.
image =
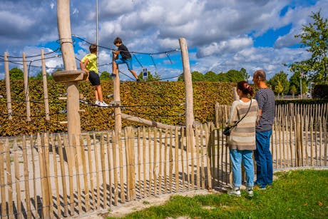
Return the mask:
M 254 185 L 253 151 L 230 149 L 230 160 L 232 163 L 232 181 L 235 187 L 242 185 L 242 164 L 246 173 L 246 185 Z

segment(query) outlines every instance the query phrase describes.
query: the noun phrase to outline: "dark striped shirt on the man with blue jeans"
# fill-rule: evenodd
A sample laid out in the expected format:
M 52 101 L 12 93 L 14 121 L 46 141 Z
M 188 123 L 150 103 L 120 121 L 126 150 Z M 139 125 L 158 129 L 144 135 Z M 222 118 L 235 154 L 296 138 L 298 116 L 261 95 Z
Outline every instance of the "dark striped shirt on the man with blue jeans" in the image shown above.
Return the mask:
M 275 121 L 275 93 L 270 88 L 260 88 L 255 94 L 255 99 L 259 104 L 259 110 L 262 110 L 256 131 L 270 131 Z

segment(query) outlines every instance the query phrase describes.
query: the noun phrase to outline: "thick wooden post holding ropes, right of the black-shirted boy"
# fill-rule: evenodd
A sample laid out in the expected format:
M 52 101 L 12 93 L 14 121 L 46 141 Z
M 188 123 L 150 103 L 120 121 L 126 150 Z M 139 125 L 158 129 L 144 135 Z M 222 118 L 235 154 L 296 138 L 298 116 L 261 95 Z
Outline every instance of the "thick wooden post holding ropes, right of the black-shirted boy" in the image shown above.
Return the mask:
M 179 39 L 181 56 L 183 58 L 183 78 L 185 80 L 185 126 L 193 126 L 195 121 L 193 112 L 193 81 L 190 73 L 190 63 L 187 43 L 184 38 Z

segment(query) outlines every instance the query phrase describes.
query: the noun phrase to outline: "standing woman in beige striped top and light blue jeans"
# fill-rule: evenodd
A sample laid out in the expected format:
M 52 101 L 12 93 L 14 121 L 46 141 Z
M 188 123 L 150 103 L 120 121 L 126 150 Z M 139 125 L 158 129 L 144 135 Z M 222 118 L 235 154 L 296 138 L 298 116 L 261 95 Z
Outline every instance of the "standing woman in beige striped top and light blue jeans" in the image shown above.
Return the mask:
M 237 126 L 232 128 L 227 145 L 230 149 L 230 161 L 232 162 L 233 188 L 227 193 L 240 196 L 240 186 L 242 185 L 241 165 L 244 165 L 246 173 L 246 186 L 248 195 L 253 195 L 252 187 L 254 185 L 254 165 L 252 159 L 255 145 L 255 126 L 258 116 L 258 105 L 254 96 L 252 87 L 246 81 L 237 83 L 237 94 L 240 100 L 232 103 L 228 126 Z

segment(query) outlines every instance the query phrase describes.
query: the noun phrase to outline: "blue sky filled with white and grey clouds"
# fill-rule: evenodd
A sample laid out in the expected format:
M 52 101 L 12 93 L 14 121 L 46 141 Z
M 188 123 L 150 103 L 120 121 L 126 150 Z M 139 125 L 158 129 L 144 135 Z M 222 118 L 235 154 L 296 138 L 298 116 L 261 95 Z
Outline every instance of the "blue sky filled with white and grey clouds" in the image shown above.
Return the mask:
M 99 70 L 111 72 L 113 39 L 119 36 L 133 54 L 137 73 L 147 68 L 163 81 L 176 81 L 183 72 L 179 39 L 185 38 L 190 71 L 245 68 L 252 76 L 262 68 L 267 78 L 280 71 L 291 76 L 283 63 L 309 58 L 294 36 L 319 10 L 328 17 L 328 0 L 98 0 Z M 73 0 L 70 11 L 78 66 L 88 43 L 96 43 L 96 0 Z M 63 68 L 59 47 L 56 1 L 1 0 L 0 79 L 4 52 L 9 69 L 23 69 L 22 54 L 31 56 L 33 76 L 41 71 L 41 49 L 48 54 L 48 73 Z M 125 66 L 120 71 L 122 81 L 132 80 Z

